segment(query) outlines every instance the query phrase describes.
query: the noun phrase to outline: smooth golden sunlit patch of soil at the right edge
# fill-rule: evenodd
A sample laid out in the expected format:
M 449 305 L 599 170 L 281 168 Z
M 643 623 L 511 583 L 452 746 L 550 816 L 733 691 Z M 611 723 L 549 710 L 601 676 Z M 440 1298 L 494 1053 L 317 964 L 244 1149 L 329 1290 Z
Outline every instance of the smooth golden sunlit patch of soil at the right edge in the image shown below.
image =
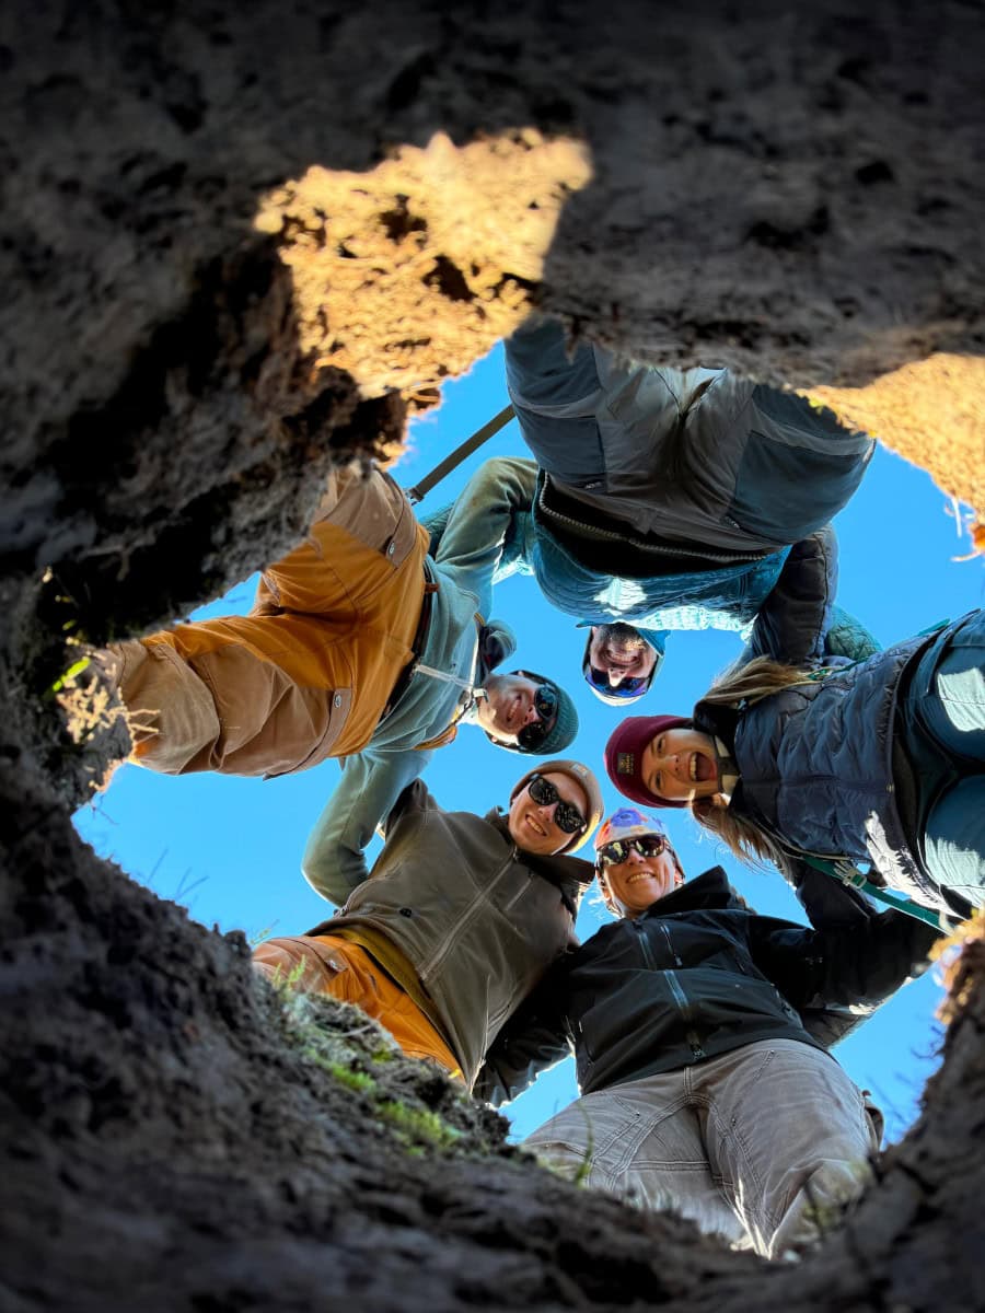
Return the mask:
M 985 360 L 929 356 L 867 387 L 814 387 L 806 395 L 927 470 L 985 523 Z

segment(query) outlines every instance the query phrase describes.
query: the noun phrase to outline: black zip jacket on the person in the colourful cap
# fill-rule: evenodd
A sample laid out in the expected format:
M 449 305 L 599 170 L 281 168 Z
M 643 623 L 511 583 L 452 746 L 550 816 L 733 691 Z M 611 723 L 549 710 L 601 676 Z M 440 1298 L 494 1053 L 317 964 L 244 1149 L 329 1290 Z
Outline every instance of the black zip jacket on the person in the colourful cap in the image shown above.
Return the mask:
M 759 916 L 714 867 L 559 958 L 489 1049 L 474 1094 L 507 1103 L 569 1052 L 591 1094 L 756 1040 L 823 1048 L 801 1010 L 883 1002 L 936 937 L 896 911 L 831 931 Z

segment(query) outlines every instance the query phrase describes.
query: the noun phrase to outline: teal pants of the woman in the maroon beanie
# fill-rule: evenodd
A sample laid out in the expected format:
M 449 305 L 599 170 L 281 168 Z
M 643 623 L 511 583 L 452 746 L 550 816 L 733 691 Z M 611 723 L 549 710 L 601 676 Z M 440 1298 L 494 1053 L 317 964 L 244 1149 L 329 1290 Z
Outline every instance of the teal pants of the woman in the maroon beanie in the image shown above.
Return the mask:
M 985 611 L 921 656 L 901 708 L 918 777 L 923 864 L 942 889 L 985 906 Z

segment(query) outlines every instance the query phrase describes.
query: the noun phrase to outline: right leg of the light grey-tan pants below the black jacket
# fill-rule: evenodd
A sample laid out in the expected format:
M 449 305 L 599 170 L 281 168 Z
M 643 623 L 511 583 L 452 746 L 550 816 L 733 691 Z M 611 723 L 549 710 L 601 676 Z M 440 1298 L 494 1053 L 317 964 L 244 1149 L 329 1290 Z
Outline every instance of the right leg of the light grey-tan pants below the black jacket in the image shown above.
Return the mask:
M 817 1239 L 864 1188 L 879 1138 L 827 1053 L 764 1040 L 688 1075 L 712 1170 L 764 1258 Z

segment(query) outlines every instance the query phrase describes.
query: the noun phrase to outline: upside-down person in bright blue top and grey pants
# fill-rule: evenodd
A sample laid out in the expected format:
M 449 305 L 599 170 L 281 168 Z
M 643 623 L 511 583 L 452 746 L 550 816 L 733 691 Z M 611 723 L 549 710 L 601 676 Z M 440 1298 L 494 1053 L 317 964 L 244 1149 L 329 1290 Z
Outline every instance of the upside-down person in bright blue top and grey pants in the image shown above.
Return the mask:
M 516 484 L 508 555 L 582 624 L 633 626 L 653 664 L 649 676 L 626 678 L 647 678 L 646 687 L 670 632 L 743 630 L 756 617 L 789 548 L 829 527 L 875 452 L 872 437 L 796 393 L 728 369 L 655 366 L 584 339 L 569 344 L 546 316 L 532 315 L 504 349 L 510 399 L 536 461 L 499 475 Z M 834 550 L 831 534 L 831 565 Z M 834 587 L 797 664 L 873 650 L 852 617 L 831 613 L 833 600 Z M 646 691 L 613 689 L 608 666 L 583 664 L 607 700 Z

